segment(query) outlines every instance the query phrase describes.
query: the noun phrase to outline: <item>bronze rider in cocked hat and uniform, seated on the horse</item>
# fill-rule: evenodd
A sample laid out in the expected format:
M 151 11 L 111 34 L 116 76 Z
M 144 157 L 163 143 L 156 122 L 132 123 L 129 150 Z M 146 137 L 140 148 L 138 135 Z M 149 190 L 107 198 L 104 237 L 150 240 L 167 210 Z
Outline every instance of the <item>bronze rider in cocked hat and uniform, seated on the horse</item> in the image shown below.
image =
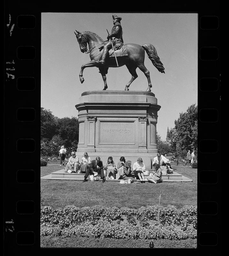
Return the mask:
M 111 38 L 115 44 L 115 48 L 120 49 L 121 46 L 123 45 L 123 39 L 122 39 L 122 26 L 120 24 L 121 17 L 118 17 L 117 15 L 112 15 L 113 17 L 113 24 L 114 27 L 111 29 L 111 34 L 107 36 L 107 40 Z M 101 60 L 99 61 L 100 64 L 105 64 L 106 63 L 106 57 L 109 54 L 109 50 L 111 50 L 112 44 L 111 41 L 109 41 L 107 44 L 103 46 L 103 55 L 101 57 Z

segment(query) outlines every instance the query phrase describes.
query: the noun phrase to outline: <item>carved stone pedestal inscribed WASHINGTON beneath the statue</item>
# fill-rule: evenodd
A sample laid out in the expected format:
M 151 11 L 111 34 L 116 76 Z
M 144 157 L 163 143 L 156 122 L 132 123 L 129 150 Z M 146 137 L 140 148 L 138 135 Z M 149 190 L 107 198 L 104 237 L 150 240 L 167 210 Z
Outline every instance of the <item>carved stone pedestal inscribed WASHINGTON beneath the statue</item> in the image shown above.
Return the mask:
M 100 156 L 105 164 L 112 156 L 134 162 L 141 157 L 152 168 L 156 156 L 157 99 L 152 92 L 88 91 L 75 106 L 79 120 L 77 156 L 88 152 L 91 159 Z

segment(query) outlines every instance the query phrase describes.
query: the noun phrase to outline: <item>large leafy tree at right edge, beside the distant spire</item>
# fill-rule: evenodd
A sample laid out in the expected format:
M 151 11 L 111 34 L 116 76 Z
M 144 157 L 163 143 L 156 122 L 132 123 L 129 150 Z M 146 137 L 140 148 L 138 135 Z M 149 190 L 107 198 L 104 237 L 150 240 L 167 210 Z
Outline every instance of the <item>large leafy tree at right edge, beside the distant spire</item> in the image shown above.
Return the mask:
M 172 147 L 176 151 L 184 152 L 188 149 L 197 149 L 197 106 L 192 104 L 187 112 L 180 113 L 174 121 L 176 132 L 171 134 Z M 182 153 L 183 154 L 183 153 Z

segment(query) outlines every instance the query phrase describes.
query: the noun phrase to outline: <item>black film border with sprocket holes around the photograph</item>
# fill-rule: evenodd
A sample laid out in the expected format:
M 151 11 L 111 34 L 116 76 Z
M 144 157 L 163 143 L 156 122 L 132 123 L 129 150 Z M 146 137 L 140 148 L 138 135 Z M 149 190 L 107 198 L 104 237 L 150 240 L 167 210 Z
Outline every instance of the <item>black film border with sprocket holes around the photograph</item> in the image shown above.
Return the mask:
M 213 161 L 221 156 L 220 6 L 218 1 L 202 1 L 201 4 L 197 4 L 197 1 L 191 4 L 178 1 L 176 4 L 163 5 L 153 4 L 147 12 L 152 10 L 152 12 L 198 13 L 198 158 L 201 159 L 200 163 L 198 162 L 198 237 L 197 249 L 191 251 L 186 249 L 185 252 L 191 254 L 195 250 L 198 254 L 204 252 L 205 255 L 210 255 L 210 253 L 218 253 L 222 248 L 221 165 L 215 166 Z M 127 12 L 125 7 L 123 8 L 121 12 Z M 80 12 L 107 11 L 102 10 L 102 7 L 95 3 L 80 9 Z M 68 6 L 57 3 L 43 4 L 36 1 L 34 3 L 5 1 L 4 248 L 9 254 L 11 254 L 10 251 L 15 251 L 18 255 L 50 252 L 50 249 L 40 248 L 41 12 L 79 12 L 79 7 L 71 4 Z M 146 12 L 146 8 L 138 7 L 134 10 L 133 7 L 131 12 Z M 21 15 L 35 17 L 35 19 L 29 17 L 30 23 L 34 24 L 33 20 L 35 20 L 35 26 L 30 24 L 28 28 L 18 27 L 18 19 Z M 218 27 L 201 28 L 201 19 L 206 19 L 203 17 L 217 17 Z M 20 51 L 18 47 L 21 46 L 29 47 L 29 54 L 25 48 Z M 25 55 L 27 54 L 26 60 L 23 59 L 25 56 L 23 51 Z M 217 54 L 218 58 L 209 59 L 209 55 Z M 30 82 L 25 82 L 25 77 L 29 77 Z M 216 79 L 218 87 L 216 85 L 214 87 L 214 82 L 210 82 L 211 84 L 207 86 L 213 90 L 203 90 L 203 88 L 206 89 L 206 84 L 204 85 L 202 79 L 209 78 Z M 22 113 L 22 111 L 21 119 L 18 119 L 17 111 L 20 111 L 20 108 L 26 108 L 27 112 Z M 209 109 L 217 110 L 217 121 L 214 113 L 212 114 Z M 205 115 L 202 115 L 201 111 L 205 111 Z M 23 119 L 26 116 L 33 116 L 31 114 L 33 112 L 35 112 L 35 118 L 30 118 L 33 120 Z M 206 115 L 209 115 L 209 119 L 205 118 L 207 120 L 205 122 L 200 121 Z M 10 153 L 14 156 L 17 166 L 9 168 L 7 163 Z M 23 181 L 23 178 L 20 180 L 24 175 L 23 170 L 29 173 L 26 182 L 20 182 Z M 209 178 L 210 175 L 212 179 Z M 17 210 L 22 209 L 23 204 L 25 208 L 30 205 L 27 214 L 20 214 Z M 53 252 L 55 250 L 53 249 Z M 174 252 L 174 249 L 171 250 Z M 180 252 L 176 253 L 179 255 Z

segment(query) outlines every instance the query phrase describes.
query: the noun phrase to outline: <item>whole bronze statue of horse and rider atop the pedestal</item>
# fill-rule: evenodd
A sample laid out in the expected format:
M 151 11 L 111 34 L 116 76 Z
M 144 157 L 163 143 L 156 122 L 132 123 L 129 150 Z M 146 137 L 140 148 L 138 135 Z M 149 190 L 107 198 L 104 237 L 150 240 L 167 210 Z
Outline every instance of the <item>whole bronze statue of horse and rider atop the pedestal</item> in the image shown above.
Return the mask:
M 126 65 L 132 77 L 126 84 L 125 91 L 129 91 L 130 84 L 138 77 L 136 68 L 139 68 L 148 80 L 148 88 L 146 91 L 151 92 L 152 84 L 150 81 L 149 70 L 144 65 L 145 51 L 157 70 L 164 73 L 164 66 L 157 56 L 155 47 L 152 44 L 123 44 L 122 26 L 120 23 L 122 18 L 117 15 L 112 15 L 112 17 L 114 26 L 111 29 L 111 34 L 108 34 L 106 41 L 103 41 L 100 36 L 90 31 L 74 31 L 80 45 L 80 51 L 90 53 L 91 59 L 91 61 L 81 66 L 81 84 L 84 82 L 84 68 L 97 67 L 99 68 L 99 73 L 101 73 L 103 77 L 103 90 L 106 90 L 108 88 L 106 81 L 108 68 L 116 68 Z

